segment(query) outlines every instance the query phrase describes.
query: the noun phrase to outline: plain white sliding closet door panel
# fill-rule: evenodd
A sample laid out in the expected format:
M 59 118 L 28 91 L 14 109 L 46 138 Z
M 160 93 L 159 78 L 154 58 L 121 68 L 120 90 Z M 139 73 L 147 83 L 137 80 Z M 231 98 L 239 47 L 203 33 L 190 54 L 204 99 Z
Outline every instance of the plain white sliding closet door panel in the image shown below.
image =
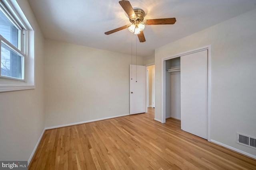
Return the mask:
M 208 51 L 180 57 L 181 129 L 208 138 Z

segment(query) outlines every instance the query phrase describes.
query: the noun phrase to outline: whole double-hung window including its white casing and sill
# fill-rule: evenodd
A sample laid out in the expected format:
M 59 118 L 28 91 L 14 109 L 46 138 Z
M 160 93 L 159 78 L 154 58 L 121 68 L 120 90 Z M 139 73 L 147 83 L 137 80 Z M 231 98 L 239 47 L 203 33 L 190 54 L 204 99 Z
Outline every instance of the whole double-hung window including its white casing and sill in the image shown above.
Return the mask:
M 34 30 L 23 13 L 31 9 L 23 8 L 0 0 L 0 92 L 35 88 Z

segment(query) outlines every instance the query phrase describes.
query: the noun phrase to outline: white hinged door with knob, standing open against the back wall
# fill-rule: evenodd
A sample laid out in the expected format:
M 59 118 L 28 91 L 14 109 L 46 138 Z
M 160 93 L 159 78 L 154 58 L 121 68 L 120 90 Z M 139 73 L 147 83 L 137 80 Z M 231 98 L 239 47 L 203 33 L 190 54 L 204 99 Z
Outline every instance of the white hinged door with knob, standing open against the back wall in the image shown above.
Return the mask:
M 130 115 L 146 112 L 146 66 L 130 65 Z

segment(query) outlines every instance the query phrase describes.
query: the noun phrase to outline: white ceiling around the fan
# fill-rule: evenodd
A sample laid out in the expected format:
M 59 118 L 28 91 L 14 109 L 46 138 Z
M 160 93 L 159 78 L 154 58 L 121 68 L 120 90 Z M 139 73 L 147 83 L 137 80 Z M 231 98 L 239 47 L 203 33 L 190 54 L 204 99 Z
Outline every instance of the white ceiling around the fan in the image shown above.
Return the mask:
M 45 38 L 131 54 L 149 56 L 154 49 L 216 25 L 250 10 L 256 0 L 130 0 L 146 19 L 176 18 L 174 25 L 146 25 L 146 42 L 128 29 L 104 32 L 130 24 L 118 0 L 28 0 Z M 232 28 L 230 28 L 232 29 Z M 134 52 L 135 51 L 135 52 Z

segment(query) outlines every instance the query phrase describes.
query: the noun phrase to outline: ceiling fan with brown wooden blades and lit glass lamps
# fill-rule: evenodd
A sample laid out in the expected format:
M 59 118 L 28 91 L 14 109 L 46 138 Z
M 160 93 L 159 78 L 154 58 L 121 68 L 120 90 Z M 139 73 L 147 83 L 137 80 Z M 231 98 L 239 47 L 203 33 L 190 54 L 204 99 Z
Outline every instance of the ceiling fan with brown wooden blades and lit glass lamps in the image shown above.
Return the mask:
M 133 9 L 132 5 L 128 0 L 120 0 L 119 4 L 122 6 L 126 14 L 129 16 L 129 20 L 132 24 L 124 25 L 122 27 L 107 31 L 105 32 L 106 35 L 128 28 L 129 31 L 134 32 L 134 34 L 137 34 L 140 42 L 143 43 L 146 41 L 143 33 L 145 25 L 164 25 L 164 24 L 174 24 L 176 22 L 176 18 L 161 18 L 161 19 L 151 19 L 151 20 L 144 21 L 145 12 L 142 9 L 140 8 Z

